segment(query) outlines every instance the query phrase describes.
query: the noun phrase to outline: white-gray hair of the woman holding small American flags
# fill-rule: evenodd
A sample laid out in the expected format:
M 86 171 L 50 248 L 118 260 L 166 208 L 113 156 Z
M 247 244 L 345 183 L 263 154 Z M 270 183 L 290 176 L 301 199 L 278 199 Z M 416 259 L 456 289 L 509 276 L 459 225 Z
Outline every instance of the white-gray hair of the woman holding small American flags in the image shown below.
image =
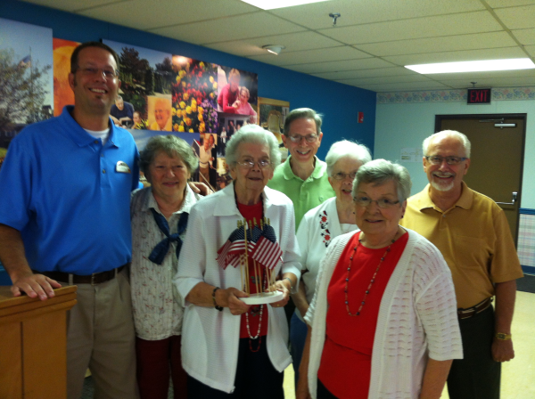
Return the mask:
M 275 135 L 258 125 L 245 125 L 241 127 L 226 143 L 226 164 L 234 167 L 236 164 L 237 151 L 240 144 L 251 142 L 253 144 L 267 145 L 269 147 L 269 159 L 273 167 L 281 163 L 281 152 L 278 149 L 278 141 Z

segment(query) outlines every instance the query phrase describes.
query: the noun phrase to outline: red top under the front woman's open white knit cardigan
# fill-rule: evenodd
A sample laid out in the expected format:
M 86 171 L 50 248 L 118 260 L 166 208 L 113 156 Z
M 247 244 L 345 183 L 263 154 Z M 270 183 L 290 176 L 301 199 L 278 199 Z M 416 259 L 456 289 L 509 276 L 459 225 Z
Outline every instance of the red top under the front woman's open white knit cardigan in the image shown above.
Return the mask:
M 348 300 L 351 314 L 357 314 L 377 265 L 388 248 L 372 249 L 358 245 L 359 237 L 360 232 L 353 235 L 343 249 L 327 289 L 325 346 L 317 372 L 318 379 L 340 399 L 367 398 L 381 299 L 408 240 L 405 233 L 392 244 L 360 314 L 350 316 L 345 304 L 345 287 L 354 248 L 358 246 L 350 265 Z

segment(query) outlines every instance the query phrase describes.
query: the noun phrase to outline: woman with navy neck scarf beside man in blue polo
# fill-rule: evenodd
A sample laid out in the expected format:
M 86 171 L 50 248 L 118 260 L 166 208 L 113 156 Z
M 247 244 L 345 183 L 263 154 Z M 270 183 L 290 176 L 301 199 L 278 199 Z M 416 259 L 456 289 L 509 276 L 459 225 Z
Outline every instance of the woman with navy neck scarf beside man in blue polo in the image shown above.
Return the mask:
M 170 134 L 152 137 L 140 154 L 140 169 L 151 186 L 132 194 L 130 283 L 142 399 L 167 399 L 169 375 L 175 397 L 185 397 L 180 355 L 184 307 L 173 277 L 188 212 L 199 199 L 187 183 L 197 166 L 190 145 Z

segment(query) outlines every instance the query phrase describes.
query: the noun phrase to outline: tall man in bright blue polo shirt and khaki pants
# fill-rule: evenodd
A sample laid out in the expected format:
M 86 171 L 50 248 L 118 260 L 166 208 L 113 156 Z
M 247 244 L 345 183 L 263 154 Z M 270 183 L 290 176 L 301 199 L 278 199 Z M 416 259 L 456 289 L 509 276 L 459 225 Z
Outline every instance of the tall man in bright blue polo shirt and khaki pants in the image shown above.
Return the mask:
M 26 127 L 7 151 L 0 260 L 15 297 L 45 300 L 54 288 L 78 285 L 68 316 L 68 397 L 80 397 L 89 368 L 95 397 L 136 398 L 128 264 L 138 153 L 109 117 L 120 86 L 117 54 L 91 42 L 70 62 L 75 106 Z

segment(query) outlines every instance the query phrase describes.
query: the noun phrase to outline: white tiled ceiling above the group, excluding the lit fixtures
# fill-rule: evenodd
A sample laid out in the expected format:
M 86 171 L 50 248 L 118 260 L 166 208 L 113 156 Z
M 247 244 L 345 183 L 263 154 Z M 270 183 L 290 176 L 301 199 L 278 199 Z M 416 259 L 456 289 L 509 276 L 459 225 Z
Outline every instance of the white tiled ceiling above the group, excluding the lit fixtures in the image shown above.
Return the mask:
M 535 69 L 419 75 L 404 65 L 531 57 L 535 0 L 27 0 L 375 92 L 535 85 Z M 340 12 L 336 27 L 328 16 Z M 262 45 L 285 45 L 276 56 Z

